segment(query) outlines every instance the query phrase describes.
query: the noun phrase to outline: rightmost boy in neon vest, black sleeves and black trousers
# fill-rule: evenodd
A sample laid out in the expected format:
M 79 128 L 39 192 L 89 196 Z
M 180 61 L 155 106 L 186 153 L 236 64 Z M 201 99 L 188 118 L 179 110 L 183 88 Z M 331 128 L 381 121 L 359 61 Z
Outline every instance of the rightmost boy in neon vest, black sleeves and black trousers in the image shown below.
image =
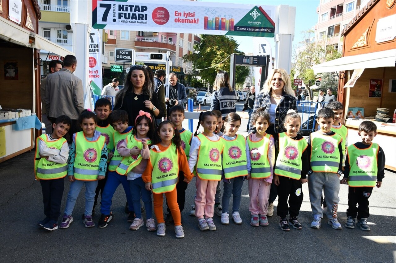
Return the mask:
M 349 184 L 346 210 L 348 219 L 345 227 L 355 228 L 357 216 L 356 225 L 364 231 L 370 231 L 367 224 L 367 218 L 370 216 L 368 199 L 374 186 L 380 188 L 382 185 L 385 175 L 385 154 L 377 143 L 373 143 L 377 135 L 377 126 L 374 122 L 369 120 L 361 122 L 358 134 L 362 137 L 362 142 L 348 146 L 344 178 L 341 180 L 341 183 Z

